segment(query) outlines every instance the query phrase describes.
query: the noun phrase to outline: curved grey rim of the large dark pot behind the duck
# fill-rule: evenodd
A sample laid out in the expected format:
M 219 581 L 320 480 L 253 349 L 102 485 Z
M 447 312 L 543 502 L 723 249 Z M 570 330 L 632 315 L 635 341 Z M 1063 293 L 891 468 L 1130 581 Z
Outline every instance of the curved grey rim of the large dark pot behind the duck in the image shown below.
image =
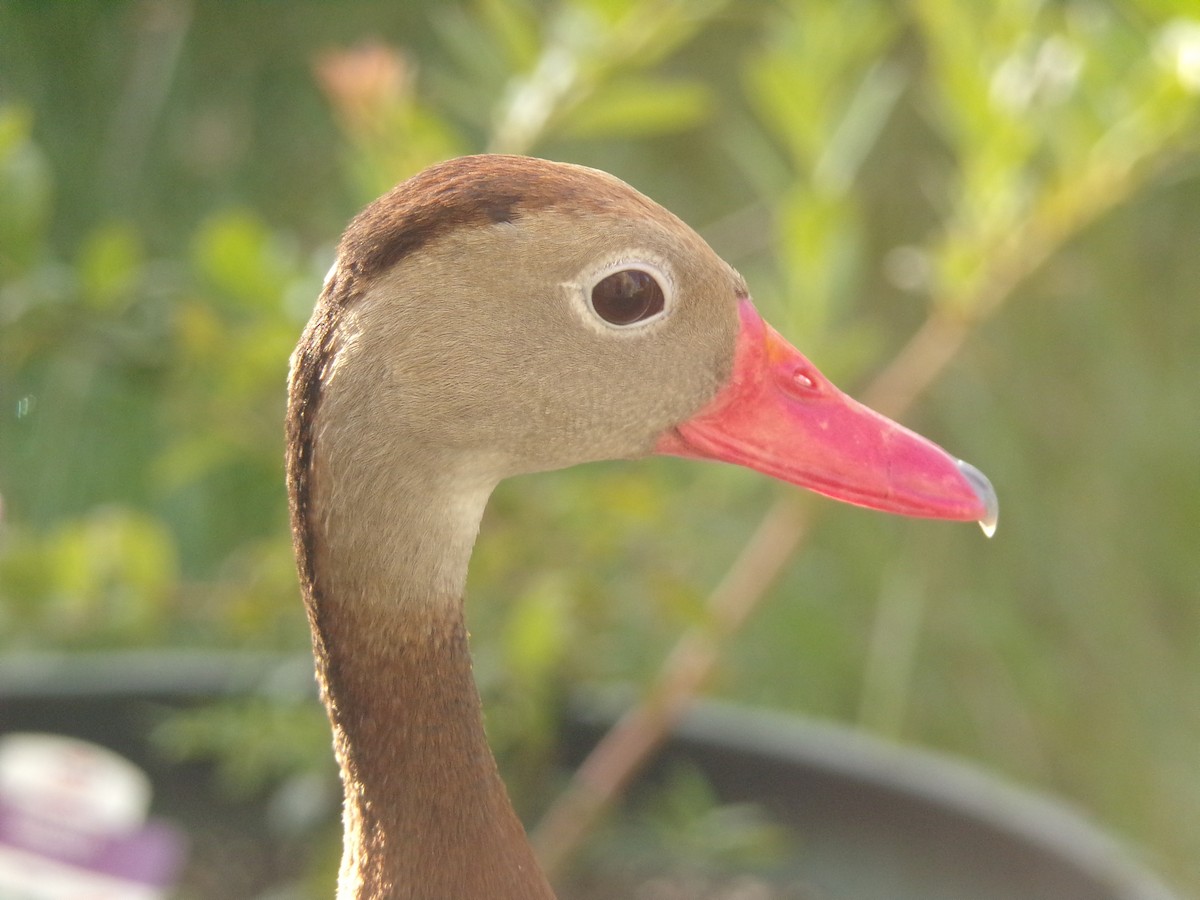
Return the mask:
M 0 654 L 0 703 L 101 697 L 196 702 L 253 694 L 314 695 L 311 658 L 188 650 Z M 628 697 L 590 692 L 570 704 L 569 762 L 599 739 Z M 997 847 L 1006 847 L 1013 865 L 1074 872 L 1073 883 L 1090 886 L 1079 896 L 1180 900 L 1124 845 L 1062 800 L 960 758 L 847 726 L 704 701 L 674 730 L 655 767 L 661 770 L 672 760 L 697 766 L 725 797 L 746 796 L 785 818 L 850 821 L 865 815 L 853 823 L 857 830 L 847 832 L 848 840 L 864 828 L 883 828 L 892 815 L 887 840 L 899 836 L 902 844 L 919 826 L 929 835 L 923 840 L 938 848 L 955 845 L 959 857 L 1002 854 Z M 928 846 L 911 845 L 907 852 L 920 856 Z

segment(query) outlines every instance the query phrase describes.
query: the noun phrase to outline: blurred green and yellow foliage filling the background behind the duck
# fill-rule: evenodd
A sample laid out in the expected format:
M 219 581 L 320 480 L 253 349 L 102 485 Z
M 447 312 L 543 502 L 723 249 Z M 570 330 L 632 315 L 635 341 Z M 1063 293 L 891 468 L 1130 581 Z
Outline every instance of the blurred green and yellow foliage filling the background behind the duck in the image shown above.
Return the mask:
M 336 234 L 449 155 L 571 160 L 850 388 L 971 330 L 908 419 L 997 539 L 830 506 L 718 690 L 1069 797 L 1200 892 L 1198 120 L 1192 0 L 0 2 L 0 646 L 305 652 L 283 382 Z M 563 692 L 644 679 L 784 490 L 500 487 L 470 617 L 522 803 Z M 164 740 L 235 780 L 328 757 L 313 709 L 197 716 Z

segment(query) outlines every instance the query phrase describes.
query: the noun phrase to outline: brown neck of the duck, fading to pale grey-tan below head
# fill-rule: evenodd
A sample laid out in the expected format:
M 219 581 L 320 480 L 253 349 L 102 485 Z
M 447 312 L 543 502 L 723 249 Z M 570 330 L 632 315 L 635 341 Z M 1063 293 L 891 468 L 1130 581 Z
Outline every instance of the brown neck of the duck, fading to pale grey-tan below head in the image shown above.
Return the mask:
M 409 470 L 311 510 L 310 622 L 346 794 L 340 900 L 552 900 L 472 676 L 462 588 L 488 493 Z

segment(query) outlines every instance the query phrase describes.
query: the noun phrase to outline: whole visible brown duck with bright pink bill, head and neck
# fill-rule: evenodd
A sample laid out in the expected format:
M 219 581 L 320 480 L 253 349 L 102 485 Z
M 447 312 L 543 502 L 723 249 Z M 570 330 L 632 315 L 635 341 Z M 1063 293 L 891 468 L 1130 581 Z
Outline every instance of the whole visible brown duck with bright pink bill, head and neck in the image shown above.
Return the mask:
M 500 480 L 658 454 L 887 512 L 997 514 L 978 469 L 839 391 L 683 221 L 526 156 L 434 164 L 353 218 L 290 360 L 286 432 L 340 900 L 553 900 L 464 618 Z

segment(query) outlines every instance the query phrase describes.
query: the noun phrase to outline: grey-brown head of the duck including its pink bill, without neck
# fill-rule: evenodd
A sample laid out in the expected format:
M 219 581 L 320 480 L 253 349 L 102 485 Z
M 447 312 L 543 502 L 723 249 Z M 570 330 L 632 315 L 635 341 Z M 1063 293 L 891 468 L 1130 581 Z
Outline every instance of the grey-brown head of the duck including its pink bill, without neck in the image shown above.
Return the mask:
M 337 326 L 307 341 L 312 380 L 354 424 L 367 473 L 433 457 L 490 491 L 656 452 L 995 526 L 982 474 L 839 391 L 694 230 L 594 169 L 426 169 L 354 220 L 310 328 L 322 307 Z

